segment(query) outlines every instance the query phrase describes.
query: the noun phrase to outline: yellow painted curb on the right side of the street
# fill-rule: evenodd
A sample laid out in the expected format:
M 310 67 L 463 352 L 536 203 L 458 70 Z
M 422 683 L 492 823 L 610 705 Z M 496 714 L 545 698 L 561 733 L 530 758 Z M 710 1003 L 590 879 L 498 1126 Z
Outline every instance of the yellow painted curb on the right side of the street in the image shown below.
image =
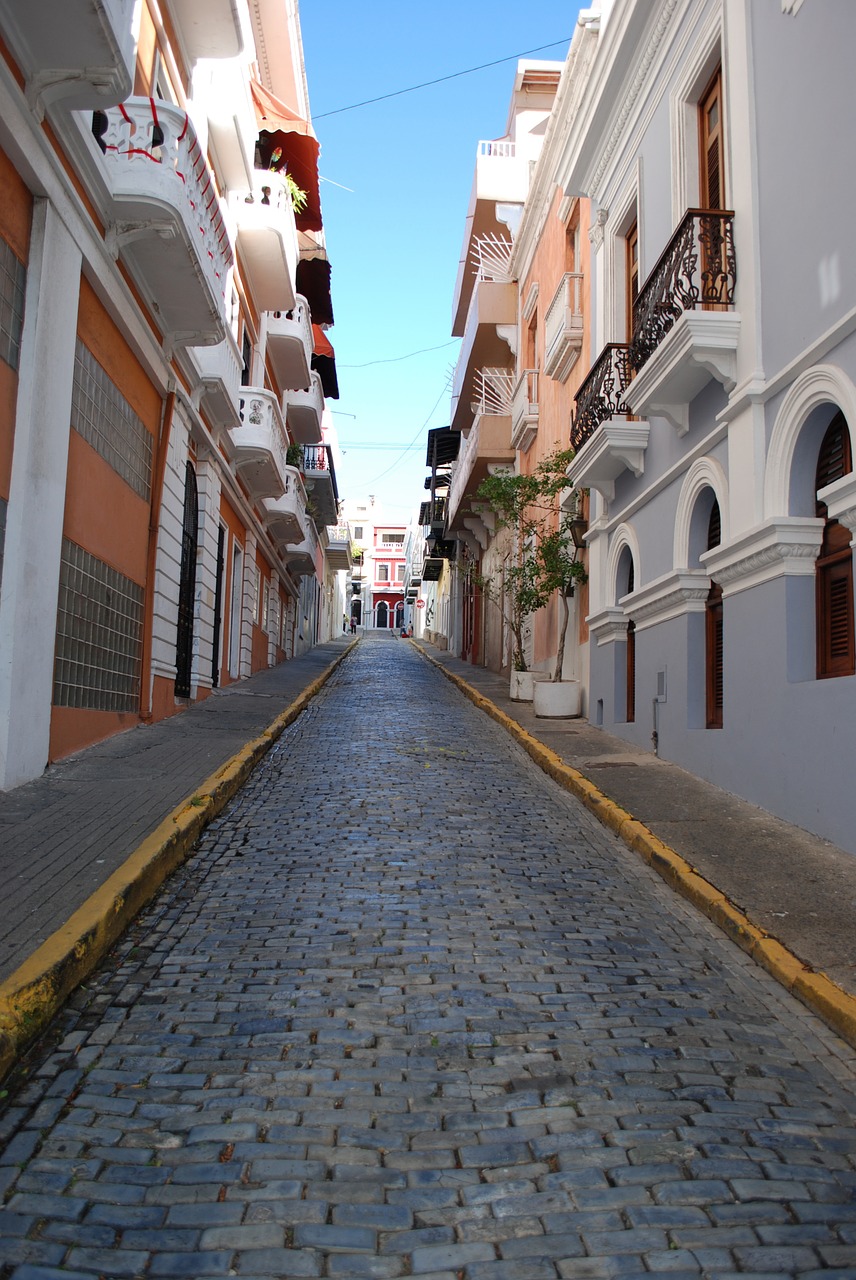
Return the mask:
M 628 849 L 640 854 L 672 888 L 692 902 L 791 995 L 807 1005 L 843 1041 L 856 1048 L 856 997 L 843 991 L 824 973 L 815 973 L 777 938 L 752 924 L 749 916 L 734 906 L 720 890 L 699 874 L 681 854 L 665 845 L 645 823 L 610 800 L 583 773 L 575 769 L 573 765 L 566 764 L 555 751 L 532 737 L 522 724 L 500 710 L 495 703 L 480 694 L 466 680 L 449 671 L 421 646 L 416 648 L 426 662 L 441 671 L 447 680 L 457 685 L 471 703 L 502 724 L 545 773 L 566 791 L 575 795 L 604 826 L 619 836 Z

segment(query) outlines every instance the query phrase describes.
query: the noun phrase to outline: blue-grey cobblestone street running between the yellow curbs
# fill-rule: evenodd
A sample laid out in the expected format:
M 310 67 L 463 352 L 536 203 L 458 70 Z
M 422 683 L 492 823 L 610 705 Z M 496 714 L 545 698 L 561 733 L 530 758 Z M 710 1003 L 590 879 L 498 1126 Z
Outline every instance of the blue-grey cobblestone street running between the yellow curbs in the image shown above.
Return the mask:
M 0 1275 L 856 1277 L 843 1046 L 366 637 L 0 1115 Z

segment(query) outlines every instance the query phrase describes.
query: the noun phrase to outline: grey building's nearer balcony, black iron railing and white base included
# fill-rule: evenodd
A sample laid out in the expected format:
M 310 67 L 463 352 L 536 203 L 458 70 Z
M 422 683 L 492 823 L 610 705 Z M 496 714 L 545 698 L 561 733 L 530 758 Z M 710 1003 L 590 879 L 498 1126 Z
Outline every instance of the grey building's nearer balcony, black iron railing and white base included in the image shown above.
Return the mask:
M 733 310 L 737 268 L 733 214 L 690 209 L 633 305 L 627 387 L 633 413 L 658 413 L 679 435 L 690 403 L 711 380 L 737 380 L 740 315 Z

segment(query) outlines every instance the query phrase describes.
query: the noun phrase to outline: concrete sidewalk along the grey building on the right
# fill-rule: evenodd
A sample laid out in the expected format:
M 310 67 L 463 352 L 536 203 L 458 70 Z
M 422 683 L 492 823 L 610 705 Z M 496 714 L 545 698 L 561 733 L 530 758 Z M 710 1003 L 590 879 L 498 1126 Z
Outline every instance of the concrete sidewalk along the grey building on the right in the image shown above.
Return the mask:
M 590 808 L 600 810 L 599 817 L 628 844 L 635 833 L 619 829 L 628 827 L 627 818 L 673 850 L 685 870 L 709 882 L 756 931 L 777 940 L 809 970 L 827 974 L 856 1001 L 856 856 L 586 721 L 537 719 L 531 703 L 511 700 L 505 676 L 429 644 L 420 648 L 546 748 L 548 756 L 555 753 L 568 771 L 594 785 Z M 550 768 L 544 756 L 539 763 Z M 585 799 L 591 786 L 569 790 Z M 741 922 L 734 920 L 734 928 L 725 919 L 717 923 L 745 945 L 747 940 L 737 936 L 746 932 Z

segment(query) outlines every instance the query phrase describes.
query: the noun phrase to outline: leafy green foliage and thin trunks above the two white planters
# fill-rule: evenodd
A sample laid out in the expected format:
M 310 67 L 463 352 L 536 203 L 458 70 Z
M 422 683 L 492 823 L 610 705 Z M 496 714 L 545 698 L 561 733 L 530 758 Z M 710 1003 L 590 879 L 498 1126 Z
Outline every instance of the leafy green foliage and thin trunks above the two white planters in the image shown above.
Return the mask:
M 559 509 L 559 494 L 567 489 L 567 468 L 573 449 L 555 449 L 543 458 L 530 475 L 499 471 L 479 485 L 476 499 L 496 521 L 496 529 L 514 535 L 514 561 L 504 581 L 480 576 L 479 585 L 496 599 L 512 632 L 512 667 L 526 671 L 523 628 L 526 618 L 544 608 L 559 593 L 562 625 L 553 681 L 562 680 L 564 643 L 568 630 L 568 595 L 575 582 L 587 581 L 577 561 L 571 532 L 571 516 Z

